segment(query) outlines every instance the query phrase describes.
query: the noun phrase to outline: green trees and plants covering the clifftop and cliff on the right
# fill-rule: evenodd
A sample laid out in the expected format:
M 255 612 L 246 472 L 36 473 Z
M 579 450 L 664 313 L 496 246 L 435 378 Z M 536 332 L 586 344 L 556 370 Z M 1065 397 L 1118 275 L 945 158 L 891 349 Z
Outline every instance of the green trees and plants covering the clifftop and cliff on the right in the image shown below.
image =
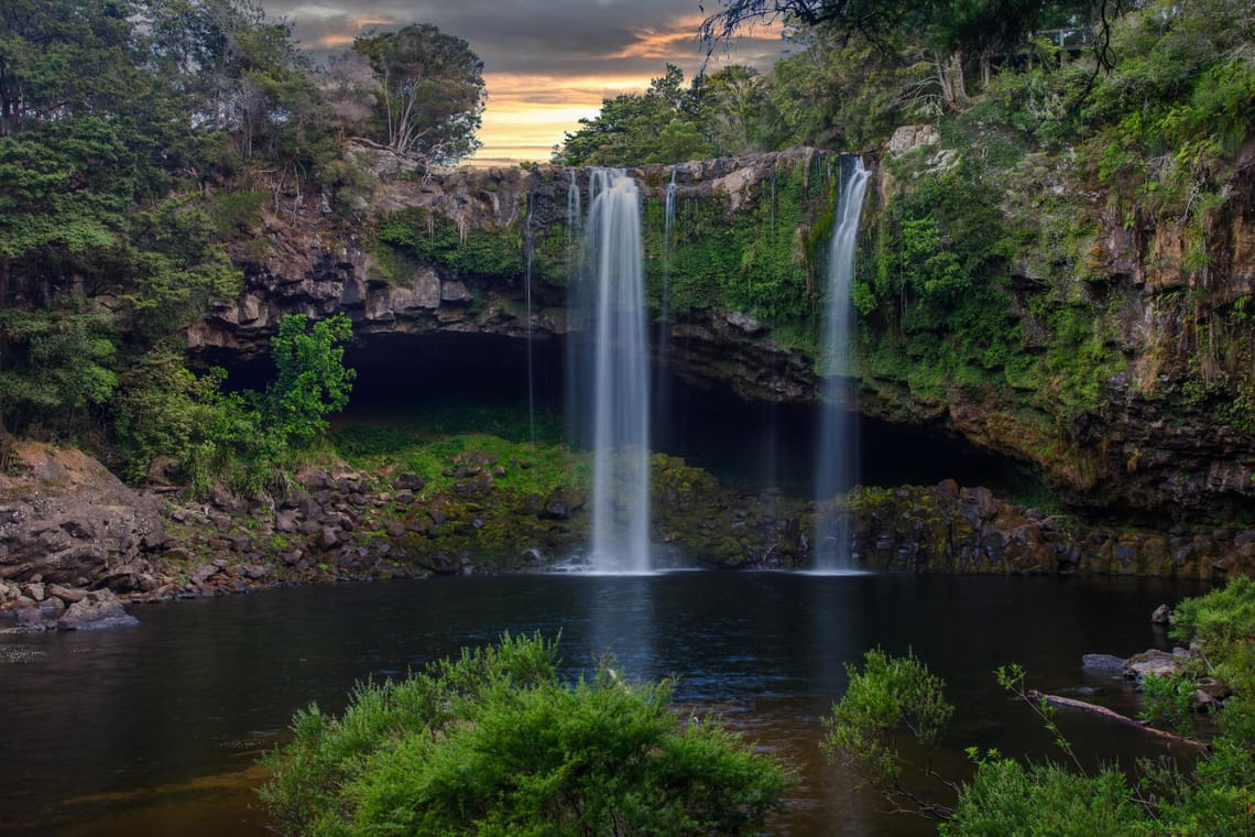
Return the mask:
M 1130 384 L 1249 432 L 1255 364 L 1234 304 L 1245 290 L 1214 252 L 1240 211 L 1255 113 L 1246 3 L 738 0 L 703 35 L 773 16 L 796 49 L 771 72 L 729 68 L 685 89 L 669 68 L 646 93 L 606 100 L 555 161 L 680 162 L 659 142 L 669 120 L 692 123 L 707 153 L 885 148 L 899 125 L 935 125 L 935 144 L 880 159 L 890 177 L 868 207 L 855 287 L 865 387 L 906 412 L 958 390 L 998 403 L 1004 440 L 1029 439 L 1025 456 L 1069 472 L 1094 467 L 1073 461 L 1069 428 Z M 702 115 L 708 107 L 728 117 Z M 676 316 L 730 307 L 813 345 L 809 245 L 823 212 L 776 227 L 802 231 L 804 253 L 719 215 L 681 207 L 668 271 Z M 660 207 L 648 217 L 660 228 Z M 1112 243 L 1113 217 L 1128 245 Z M 698 269 L 686 235 L 707 245 Z M 1155 257 L 1121 262 L 1143 250 Z M 1128 271 L 1152 290 L 1145 356 L 1128 353 L 1145 326 L 1113 292 Z

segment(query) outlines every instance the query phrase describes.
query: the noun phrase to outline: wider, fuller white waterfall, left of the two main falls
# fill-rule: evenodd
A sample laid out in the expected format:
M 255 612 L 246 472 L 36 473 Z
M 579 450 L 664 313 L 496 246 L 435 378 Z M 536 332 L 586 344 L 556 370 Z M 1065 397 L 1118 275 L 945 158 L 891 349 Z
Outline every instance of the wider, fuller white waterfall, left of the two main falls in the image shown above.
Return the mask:
M 648 572 L 649 335 L 640 189 L 621 169 L 590 181 L 574 310 L 586 340 L 574 353 L 576 420 L 592 444 L 595 570 Z M 582 422 L 581 422 L 582 419 Z

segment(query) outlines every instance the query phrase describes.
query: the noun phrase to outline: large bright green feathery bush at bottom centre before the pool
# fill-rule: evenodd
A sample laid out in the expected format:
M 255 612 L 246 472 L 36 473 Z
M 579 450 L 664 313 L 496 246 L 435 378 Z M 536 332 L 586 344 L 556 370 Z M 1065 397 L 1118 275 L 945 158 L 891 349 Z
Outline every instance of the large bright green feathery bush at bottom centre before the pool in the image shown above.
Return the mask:
M 339 718 L 310 706 L 261 799 L 291 834 L 744 834 L 779 806 L 787 770 L 674 712 L 670 683 L 560 666 L 506 635 L 360 685 Z

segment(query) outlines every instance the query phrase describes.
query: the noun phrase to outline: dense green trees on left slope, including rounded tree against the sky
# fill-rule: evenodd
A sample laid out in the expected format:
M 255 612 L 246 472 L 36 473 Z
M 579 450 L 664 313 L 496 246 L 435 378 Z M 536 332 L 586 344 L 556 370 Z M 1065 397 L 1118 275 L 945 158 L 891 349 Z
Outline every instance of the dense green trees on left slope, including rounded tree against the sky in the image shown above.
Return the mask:
M 348 394 L 331 348 L 346 320 L 285 321 L 280 379 L 251 400 L 195 376 L 182 343 L 240 292 L 232 259 L 265 260 L 280 196 L 316 186 L 341 217 L 364 206 L 375 181 L 344 136 L 425 163 L 476 148 L 482 65 L 464 41 L 423 25 L 354 48 L 314 70 L 254 0 L 5 4 L 0 448 L 8 433 L 73 439 L 132 479 L 158 462 L 203 486 L 266 472 L 325 429 Z

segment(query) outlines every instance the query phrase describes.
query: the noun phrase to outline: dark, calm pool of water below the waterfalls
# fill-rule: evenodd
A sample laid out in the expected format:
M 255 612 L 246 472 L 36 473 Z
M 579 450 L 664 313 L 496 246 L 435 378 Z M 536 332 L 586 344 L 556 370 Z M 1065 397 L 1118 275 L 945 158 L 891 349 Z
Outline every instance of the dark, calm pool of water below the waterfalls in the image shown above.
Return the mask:
M 907 650 L 946 679 L 958 706 L 946 769 L 963 748 L 1047 757 L 1050 737 L 993 669 L 1030 685 L 1088 679 L 1081 655 L 1167 646 L 1151 610 L 1201 590 L 1102 578 L 670 572 L 527 575 L 274 590 L 149 605 L 141 624 L 95 634 L 0 635 L 0 832 L 262 834 L 255 759 L 292 713 L 339 710 L 354 683 L 418 669 L 503 631 L 561 632 L 565 664 L 605 651 L 638 679 L 675 675 L 676 696 L 717 712 L 801 774 L 772 833 L 922 834 L 825 762 L 821 717 L 867 649 Z M 1136 729 L 1062 717 L 1087 759 L 1165 752 Z

